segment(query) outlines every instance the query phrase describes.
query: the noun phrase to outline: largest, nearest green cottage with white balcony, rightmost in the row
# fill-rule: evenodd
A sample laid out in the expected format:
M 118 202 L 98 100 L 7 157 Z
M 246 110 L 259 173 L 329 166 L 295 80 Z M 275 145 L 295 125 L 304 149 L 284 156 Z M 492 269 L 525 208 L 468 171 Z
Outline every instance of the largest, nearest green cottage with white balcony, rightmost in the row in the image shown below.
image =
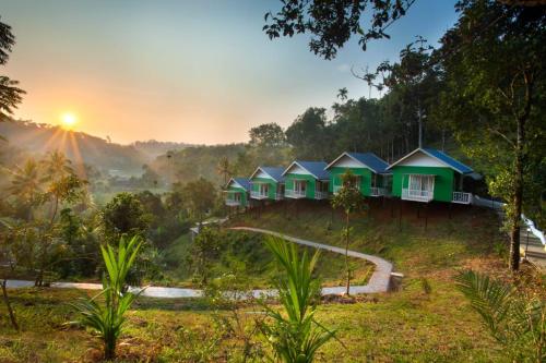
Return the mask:
M 392 194 L 405 201 L 470 204 L 472 194 L 463 192 L 463 178 L 473 170 L 446 153 L 417 148 L 391 165 Z

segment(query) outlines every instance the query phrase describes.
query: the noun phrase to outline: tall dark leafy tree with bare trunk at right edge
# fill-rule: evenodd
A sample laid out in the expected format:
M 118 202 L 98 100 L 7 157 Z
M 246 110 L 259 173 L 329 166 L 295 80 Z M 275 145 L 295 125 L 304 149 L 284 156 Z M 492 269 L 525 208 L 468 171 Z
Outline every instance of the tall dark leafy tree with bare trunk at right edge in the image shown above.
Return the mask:
M 486 166 L 489 191 L 508 201 L 510 263 L 520 264 L 521 213 L 545 148 L 546 8 L 496 1 L 460 2 L 461 16 L 442 38 L 448 88 L 444 116 L 455 136 Z

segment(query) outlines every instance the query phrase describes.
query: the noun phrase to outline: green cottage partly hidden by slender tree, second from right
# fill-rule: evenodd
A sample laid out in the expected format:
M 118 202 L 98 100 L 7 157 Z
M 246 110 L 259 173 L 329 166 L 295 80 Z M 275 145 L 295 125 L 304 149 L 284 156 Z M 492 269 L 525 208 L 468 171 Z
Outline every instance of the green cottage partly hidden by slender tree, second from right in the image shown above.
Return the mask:
M 365 196 L 383 196 L 390 191 L 389 165 L 373 153 L 343 153 L 330 162 L 330 192 L 336 194 L 343 186 L 342 176 L 351 170 L 357 178 L 357 187 Z

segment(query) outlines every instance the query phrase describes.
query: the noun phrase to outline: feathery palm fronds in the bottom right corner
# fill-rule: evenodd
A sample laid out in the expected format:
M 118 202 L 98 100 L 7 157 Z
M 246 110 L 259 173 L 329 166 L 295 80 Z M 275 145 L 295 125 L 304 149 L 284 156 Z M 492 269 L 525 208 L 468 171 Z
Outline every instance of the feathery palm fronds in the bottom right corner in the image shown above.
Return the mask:
M 546 360 L 546 304 L 539 297 L 472 270 L 456 277 L 458 287 L 482 316 L 490 335 L 515 362 Z

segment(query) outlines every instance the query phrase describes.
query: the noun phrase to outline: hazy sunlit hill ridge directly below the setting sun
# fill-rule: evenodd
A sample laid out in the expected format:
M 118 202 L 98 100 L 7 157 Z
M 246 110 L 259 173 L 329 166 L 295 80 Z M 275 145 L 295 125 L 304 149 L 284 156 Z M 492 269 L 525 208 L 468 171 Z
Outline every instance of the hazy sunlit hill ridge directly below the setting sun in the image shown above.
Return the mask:
M 48 152 L 60 150 L 74 162 L 85 162 L 109 172 L 140 174 L 142 165 L 149 157 L 134 145 L 120 145 L 88 135 L 83 132 L 68 131 L 60 126 L 29 121 L 8 120 L 0 122 L 0 153 L 20 149 L 28 155 L 40 156 Z

